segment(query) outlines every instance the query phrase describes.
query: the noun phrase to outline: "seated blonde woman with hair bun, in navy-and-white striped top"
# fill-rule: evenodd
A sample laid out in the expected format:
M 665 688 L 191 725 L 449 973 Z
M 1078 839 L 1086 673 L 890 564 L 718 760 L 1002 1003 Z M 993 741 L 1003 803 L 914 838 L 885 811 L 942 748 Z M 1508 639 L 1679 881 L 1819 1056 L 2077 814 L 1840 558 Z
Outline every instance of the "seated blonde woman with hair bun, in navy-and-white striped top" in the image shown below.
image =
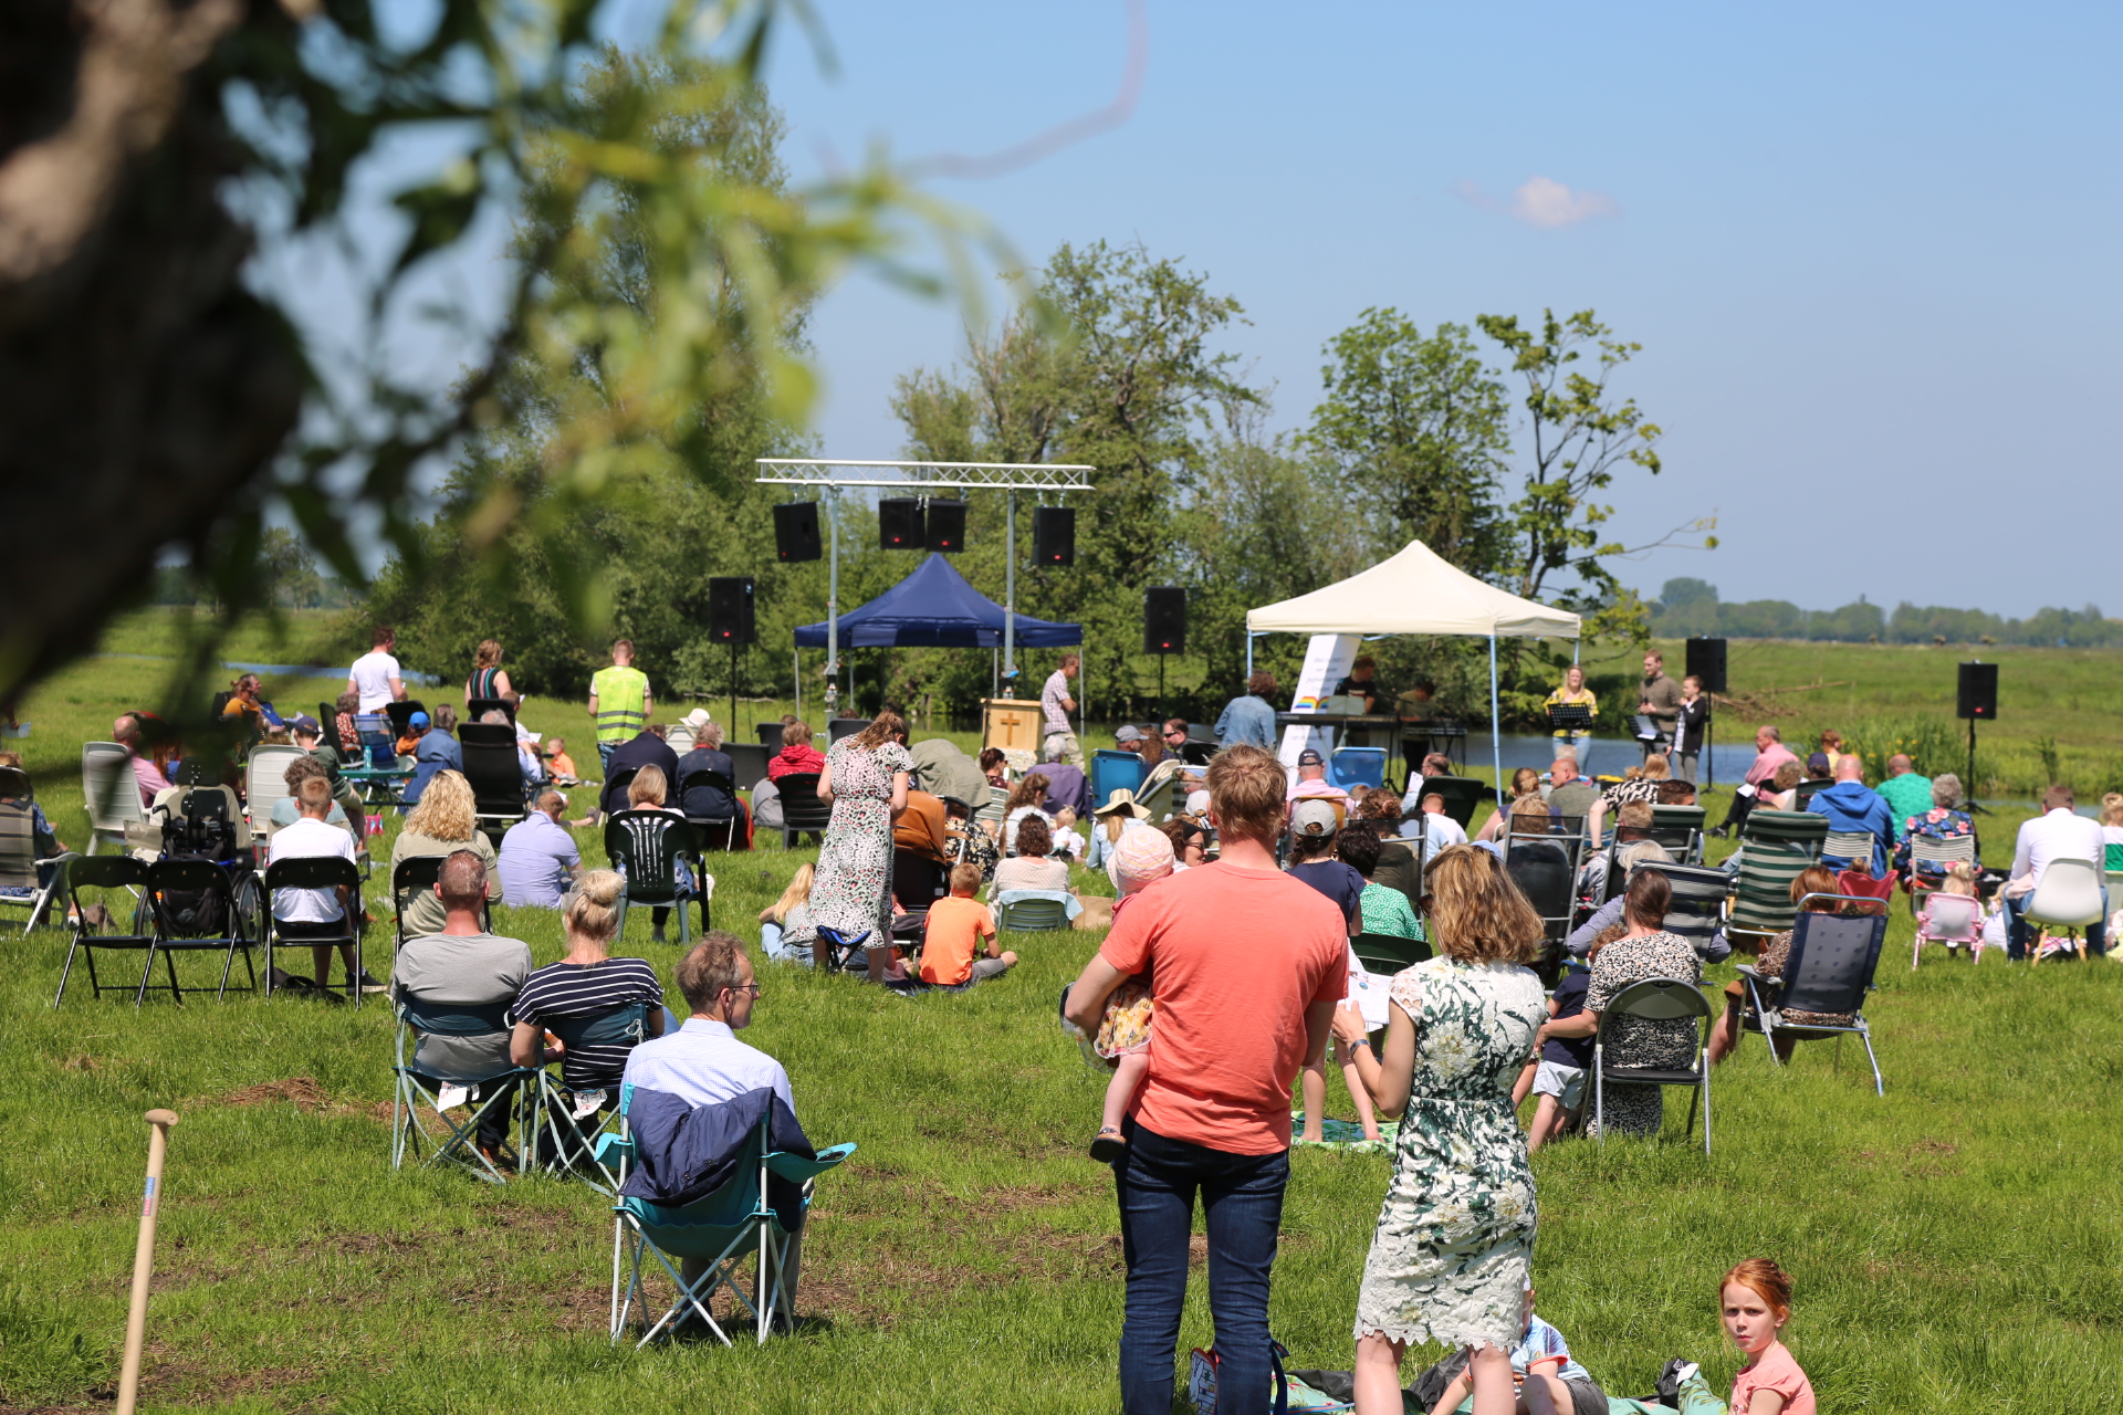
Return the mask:
M 550 1129 L 563 1137 L 563 1154 L 588 1160 L 582 1137 L 597 1135 L 603 1114 L 620 1099 L 620 1078 L 635 1046 L 660 1037 L 664 1027 L 662 984 L 643 959 L 611 957 L 611 940 L 620 933 L 626 899 L 626 878 L 616 870 L 590 870 L 560 902 L 560 927 L 567 931 L 567 955 L 524 978 L 516 1001 L 503 1020 L 510 1033 L 510 1061 L 520 1067 L 541 1067 L 552 1061 L 546 1033 L 560 1040 L 552 1048 L 560 1056 L 560 1084 L 577 1110 L 592 1095 L 599 1101 L 580 1114 L 550 1116 Z M 577 1129 L 569 1143 L 563 1124 Z

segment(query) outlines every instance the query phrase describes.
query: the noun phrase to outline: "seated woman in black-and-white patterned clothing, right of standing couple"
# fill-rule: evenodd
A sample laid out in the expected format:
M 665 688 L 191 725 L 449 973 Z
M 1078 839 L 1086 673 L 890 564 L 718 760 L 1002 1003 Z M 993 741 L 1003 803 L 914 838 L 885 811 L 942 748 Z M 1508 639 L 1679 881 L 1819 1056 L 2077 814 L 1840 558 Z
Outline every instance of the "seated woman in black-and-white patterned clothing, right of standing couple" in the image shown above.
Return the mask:
M 1592 959 L 1592 986 L 1586 991 L 1584 1027 L 1599 1029 L 1599 1014 L 1622 989 L 1647 978 L 1703 980 L 1703 959 L 1679 933 L 1667 933 L 1667 908 L 1673 885 L 1658 870 L 1637 870 L 1622 897 L 1622 938 L 1605 944 Z M 1609 1067 L 1692 1067 L 1696 1063 L 1696 1018 L 1618 1016 L 1607 1025 L 1603 1044 Z M 1667 1116 L 1664 1086 L 1624 1086 L 1609 1082 L 1601 1101 L 1607 1131 L 1616 1135 L 1658 1135 Z M 1592 1126 L 1588 1126 L 1592 1129 Z

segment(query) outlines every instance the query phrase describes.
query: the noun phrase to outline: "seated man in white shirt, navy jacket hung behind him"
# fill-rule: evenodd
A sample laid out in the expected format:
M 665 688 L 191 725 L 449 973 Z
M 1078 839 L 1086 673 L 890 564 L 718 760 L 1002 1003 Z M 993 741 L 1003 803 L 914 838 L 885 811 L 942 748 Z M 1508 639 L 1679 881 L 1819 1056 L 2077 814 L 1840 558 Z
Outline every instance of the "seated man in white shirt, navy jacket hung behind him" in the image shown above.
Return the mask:
M 677 1031 L 628 1052 L 624 1084 L 662 1090 L 688 1105 L 720 1105 L 771 1086 L 790 1114 L 796 1114 L 790 1073 L 766 1052 L 737 1040 L 752 1025 L 752 1008 L 760 1001 L 752 959 L 737 936 L 718 929 L 694 944 L 677 961 L 677 991 L 686 995 L 692 1016 Z M 794 1311 L 802 1228 L 790 1237 L 788 1292 Z M 686 1258 L 679 1273 L 686 1281 L 698 1281 L 705 1266 L 705 1258 Z

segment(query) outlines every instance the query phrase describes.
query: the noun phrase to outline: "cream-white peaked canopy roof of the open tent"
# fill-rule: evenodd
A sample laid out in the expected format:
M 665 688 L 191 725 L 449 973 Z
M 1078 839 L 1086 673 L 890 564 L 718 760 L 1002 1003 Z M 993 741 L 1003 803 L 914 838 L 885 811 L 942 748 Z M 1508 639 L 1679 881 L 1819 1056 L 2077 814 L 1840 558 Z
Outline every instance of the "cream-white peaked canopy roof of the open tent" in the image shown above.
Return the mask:
M 1446 564 L 1422 541 L 1312 594 L 1246 613 L 1253 634 L 1473 634 L 1577 639 L 1565 609 L 1505 594 Z

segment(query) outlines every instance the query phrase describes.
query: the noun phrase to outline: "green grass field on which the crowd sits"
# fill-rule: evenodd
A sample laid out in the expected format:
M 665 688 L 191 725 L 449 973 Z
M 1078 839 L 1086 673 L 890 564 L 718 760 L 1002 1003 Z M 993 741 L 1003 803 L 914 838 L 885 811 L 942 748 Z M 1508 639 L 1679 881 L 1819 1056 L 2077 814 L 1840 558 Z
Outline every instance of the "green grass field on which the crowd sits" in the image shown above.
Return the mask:
M 295 662 L 261 647 L 229 656 Z M 1881 649 L 1879 662 L 1902 653 Z M 1921 677 L 1892 666 L 1900 677 L 1883 675 L 1860 704 L 1892 702 Z M 151 702 L 157 672 L 96 660 L 21 704 L 36 734 L 19 747 L 74 844 L 79 743 L 102 738 L 121 706 Z M 1792 672 L 1813 677 L 1796 662 Z M 2013 668 L 2006 681 L 2019 681 Z M 2093 706 L 2085 713 L 2100 717 Z M 2078 719 L 2061 704 L 2040 711 Z M 2100 730 L 2085 740 L 2098 747 Z M 2017 819 L 1983 821 L 1991 863 L 2010 855 Z M 718 925 L 749 927 L 798 857 L 715 861 Z M 558 957 L 550 914 L 499 910 L 497 923 L 539 963 Z M 631 921 L 620 950 L 652 957 L 669 980 L 675 948 L 648 944 L 643 923 Z M 378 957 L 384 940 L 372 931 Z M 15 1137 L 0 1152 L 11 1220 L 0 1404 L 106 1404 L 140 1112 L 172 1105 L 185 1120 L 161 1220 L 149 1409 L 1112 1409 L 1119 1239 L 1110 1180 L 1083 1154 L 1102 1082 L 1055 1025 L 1055 995 L 1095 942 L 1006 940 L 1025 963 L 960 997 L 898 999 L 762 969 L 747 1040 L 788 1065 L 813 1139 L 860 1146 L 819 1188 L 800 1300 L 813 1322 L 764 1349 L 635 1356 L 605 1341 L 611 1233 L 594 1194 L 389 1169 L 384 1008 L 200 999 L 134 1012 L 83 991 L 53 1012 L 64 933 L 15 938 L 0 978 L 11 1061 L 0 1116 Z M 1749 1040 L 1718 1073 L 1713 1158 L 1681 1135 L 1686 1105 L 1669 1110 L 1656 1143 L 1567 1141 L 1535 1156 L 1541 1311 L 1609 1390 L 1647 1390 L 1669 1356 L 1728 1381 L 1713 1283 L 1730 1262 L 1771 1254 L 1798 1277 L 1790 1337 L 1822 1411 L 2117 1404 L 2123 1146 L 2108 1082 L 2123 1076 L 2123 967 L 1934 959 L 1913 976 L 1906 950 L 1898 914 L 1868 1008 L 1885 1099 L 1862 1052 L 1809 1046 L 1777 1073 Z M 1333 1110 L 1348 1114 L 1340 1093 Z M 1297 1366 L 1350 1360 L 1386 1173 L 1384 1156 L 1293 1158 L 1272 1324 Z M 1183 1351 L 1208 1341 L 1195 1283 Z

